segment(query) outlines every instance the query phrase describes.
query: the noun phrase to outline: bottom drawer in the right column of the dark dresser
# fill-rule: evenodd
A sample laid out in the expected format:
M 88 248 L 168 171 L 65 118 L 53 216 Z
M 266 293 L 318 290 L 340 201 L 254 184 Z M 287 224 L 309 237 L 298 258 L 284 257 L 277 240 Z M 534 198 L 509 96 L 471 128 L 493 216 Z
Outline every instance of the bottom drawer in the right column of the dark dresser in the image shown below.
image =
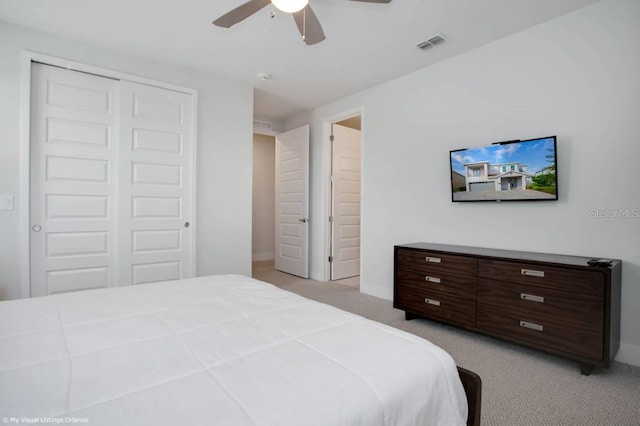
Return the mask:
M 478 328 L 519 343 L 601 361 L 604 357 L 602 331 L 574 323 L 525 313 L 499 311 L 478 304 Z

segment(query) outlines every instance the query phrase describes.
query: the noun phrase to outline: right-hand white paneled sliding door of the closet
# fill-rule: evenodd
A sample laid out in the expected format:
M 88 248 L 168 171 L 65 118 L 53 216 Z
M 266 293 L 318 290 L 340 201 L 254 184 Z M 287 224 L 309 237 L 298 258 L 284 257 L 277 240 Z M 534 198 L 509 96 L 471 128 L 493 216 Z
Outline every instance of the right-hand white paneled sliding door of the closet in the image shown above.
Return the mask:
M 122 81 L 120 105 L 120 285 L 191 277 L 192 97 Z

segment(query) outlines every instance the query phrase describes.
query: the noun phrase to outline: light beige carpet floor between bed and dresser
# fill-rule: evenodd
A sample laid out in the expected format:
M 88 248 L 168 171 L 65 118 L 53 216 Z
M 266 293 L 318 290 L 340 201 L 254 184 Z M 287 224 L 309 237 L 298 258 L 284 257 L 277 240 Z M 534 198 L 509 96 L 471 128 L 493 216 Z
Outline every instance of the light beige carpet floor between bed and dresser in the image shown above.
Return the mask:
M 254 277 L 424 337 L 482 378 L 484 425 L 640 425 L 640 367 L 580 374 L 578 363 L 432 321 L 405 321 L 390 301 L 333 282 L 254 268 Z

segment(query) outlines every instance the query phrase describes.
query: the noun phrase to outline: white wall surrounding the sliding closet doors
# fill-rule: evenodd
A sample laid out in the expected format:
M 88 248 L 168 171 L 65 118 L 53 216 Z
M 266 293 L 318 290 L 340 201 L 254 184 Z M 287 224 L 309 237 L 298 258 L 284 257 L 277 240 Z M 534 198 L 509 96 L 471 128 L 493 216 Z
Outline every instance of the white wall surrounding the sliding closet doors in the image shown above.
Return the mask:
M 28 204 L 20 194 L 26 178 L 20 169 L 20 120 L 28 119 L 20 115 L 25 49 L 198 90 L 197 274 L 249 275 L 252 88 L 0 22 L 0 195 L 16 197 L 14 210 L 0 211 L 0 299 L 26 296 L 19 251 L 26 248 L 20 218 Z

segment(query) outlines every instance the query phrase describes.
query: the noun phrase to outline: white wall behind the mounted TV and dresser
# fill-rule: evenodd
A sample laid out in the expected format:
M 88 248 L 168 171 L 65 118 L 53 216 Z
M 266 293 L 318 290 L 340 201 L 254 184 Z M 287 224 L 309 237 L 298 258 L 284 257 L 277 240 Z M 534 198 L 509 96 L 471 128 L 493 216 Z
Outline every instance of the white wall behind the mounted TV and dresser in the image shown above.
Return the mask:
M 617 359 L 640 365 L 640 217 L 597 217 L 640 208 L 639 22 L 637 0 L 603 0 L 285 123 L 312 129 L 312 276 L 325 268 L 322 124 L 361 108 L 361 291 L 391 299 L 393 246 L 413 241 L 619 258 Z M 449 150 L 547 135 L 559 201 L 450 201 Z

